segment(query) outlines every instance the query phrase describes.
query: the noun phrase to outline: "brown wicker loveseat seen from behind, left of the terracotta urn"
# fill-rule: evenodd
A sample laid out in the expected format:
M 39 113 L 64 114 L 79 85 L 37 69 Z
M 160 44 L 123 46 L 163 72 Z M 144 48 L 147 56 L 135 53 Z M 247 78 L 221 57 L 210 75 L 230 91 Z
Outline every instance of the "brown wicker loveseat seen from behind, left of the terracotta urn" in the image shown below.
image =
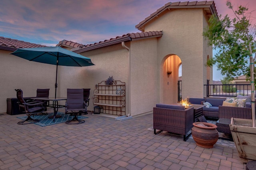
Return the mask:
M 183 135 L 186 141 L 194 123 L 194 107 L 185 109 L 184 106 L 156 104 L 153 107 L 153 128 L 154 134 L 167 131 L 173 134 Z M 158 129 L 159 131 L 156 131 Z

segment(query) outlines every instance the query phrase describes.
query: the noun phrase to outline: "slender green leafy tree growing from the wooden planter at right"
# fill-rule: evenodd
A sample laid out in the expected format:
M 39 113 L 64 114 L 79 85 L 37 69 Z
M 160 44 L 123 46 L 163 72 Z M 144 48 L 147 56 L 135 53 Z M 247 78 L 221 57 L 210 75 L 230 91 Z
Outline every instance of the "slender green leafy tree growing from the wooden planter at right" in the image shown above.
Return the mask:
M 218 50 L 214 58 L 208 60 L 207 65 L 216 64 L 218 70 L 226 77 L 234 77 L 245 74 L 250 77 L 252 89 L 252 119 L 255 125 L 255 86 L 254 64 L 256 41 L 256 26 L 252 25 L 251 13 L 248 8 L 239 6 L 234 10 L 230 1 L 226 4 L 234 12 L 234 19 L 228 15 L 212 15 L 209 19 L 209 27 L 204 29 L 203 36 L 208 39 L 208 45 L 214 45 Z M 253 56 L 254 55 L 254 56 Z M 249 63 L 248 63 L 249 60 Z

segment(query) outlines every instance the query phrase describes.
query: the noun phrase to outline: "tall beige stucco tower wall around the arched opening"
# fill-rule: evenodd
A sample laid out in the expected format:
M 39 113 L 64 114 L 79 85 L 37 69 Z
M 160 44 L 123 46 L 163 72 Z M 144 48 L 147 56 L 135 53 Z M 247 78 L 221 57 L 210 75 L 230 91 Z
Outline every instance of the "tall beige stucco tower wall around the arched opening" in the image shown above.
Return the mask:
M 160 102 L 164 102 L 164 93 L 166 93 L 163 84 L 163 76 L 166 75 L 161 73 L 161 69 L 164 57 L 171 54 L 178 55 L 182 61 L 182 98 L 204 96 L 206 61 L 203 58 L 206 52 L 204 52 L 202 36 L 203 15 L 201 8 L 171 9 L 166 10 L 145 26 L 145 31 L 163 31 L 163 36 L 158 41 L 157 53 Z M 176 96 L 171 92 L 170 98 L 176 101 Z

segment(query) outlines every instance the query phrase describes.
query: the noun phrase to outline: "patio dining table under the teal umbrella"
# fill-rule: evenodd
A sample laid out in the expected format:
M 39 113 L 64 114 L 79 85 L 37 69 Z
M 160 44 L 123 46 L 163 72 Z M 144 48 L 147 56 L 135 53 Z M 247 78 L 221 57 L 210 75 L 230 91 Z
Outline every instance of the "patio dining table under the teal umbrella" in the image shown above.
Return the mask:
M 61 117 L 57 116 L 58 113 L 58 108 L 59 107 L 64 107 L 63 105 L 59 105 L 58 101 L 61 100 L 67 100 L 67 98 L 61 98 L 61 97 L 49 97 L 49 98 L 31 98 L 31 99 L 36 99 L 36 100 L 45 100 L 45 101 L 52 101 L 52 105 L 49 105 L 49 107 L 53 107 L 54 115 L 49 116 L 49 118 L 53 118 L 53 121 L 55 121 L 55 118 Z

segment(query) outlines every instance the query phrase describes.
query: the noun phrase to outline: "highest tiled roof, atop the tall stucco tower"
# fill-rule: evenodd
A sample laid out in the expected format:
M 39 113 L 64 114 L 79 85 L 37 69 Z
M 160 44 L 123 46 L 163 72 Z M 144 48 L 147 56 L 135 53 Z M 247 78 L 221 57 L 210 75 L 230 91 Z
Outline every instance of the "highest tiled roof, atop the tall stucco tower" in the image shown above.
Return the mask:
M 158 17 L 159 14 L 166 10 L 177 8 L 203 8 L 208 18 L 210 18 L 210 16 L 212 16 L 213 14 L 218 15 L 214 1 L 168 2 L 167 4 L 156 10 L 156 12 L 145 18 L 145 20 L 141 21 L 135 27 L 140 31 L 144 31 L 144 25 L 146 25 L 146 23 Z

